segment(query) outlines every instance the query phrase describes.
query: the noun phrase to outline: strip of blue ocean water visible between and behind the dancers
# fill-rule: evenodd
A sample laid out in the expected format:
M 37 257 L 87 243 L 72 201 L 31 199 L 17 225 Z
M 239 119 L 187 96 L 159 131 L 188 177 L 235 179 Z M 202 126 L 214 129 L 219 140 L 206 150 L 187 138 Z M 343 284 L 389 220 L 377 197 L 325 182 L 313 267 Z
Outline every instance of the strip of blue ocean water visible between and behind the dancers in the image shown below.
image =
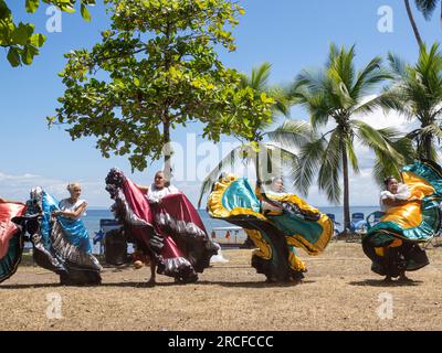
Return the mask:
M 338 231 L 343 231 L 344 224 L 344 208 L 343 207 L 320 207 L 322 213 L 332 213 L 336 217 L 336 222 L 340 223 L 337 226 Z M 365 217 L 367 217 L 370 213 L 378 211 L 379 207 L 377 206 L 355 206 L 351 207 L 351 213 L 364 213 Z M 202 222 L 206 225 L 206 229 L 209 234 L 212 233 L 213 228 L 221 228 L 221 227 L 232 227 L 233 225 L 220 220 L 213 220 L 204 210 L 198 211 Z M 86 228 L 90 232 L 90 237 L 93 238 L 95 233 L 99 231 L 99 220 L 113 220 L 114 215 L 109 210 L 87 210 L 87 215 L 83 218 Z M 230 232 L 231 238 L 230 240 L 234 243 L 235 240 L 241 240 L 245 238 L 245 233 L 243 231 L 239 232 Z M 217 231 L 217 239 L 225 240 L 227 231 Z

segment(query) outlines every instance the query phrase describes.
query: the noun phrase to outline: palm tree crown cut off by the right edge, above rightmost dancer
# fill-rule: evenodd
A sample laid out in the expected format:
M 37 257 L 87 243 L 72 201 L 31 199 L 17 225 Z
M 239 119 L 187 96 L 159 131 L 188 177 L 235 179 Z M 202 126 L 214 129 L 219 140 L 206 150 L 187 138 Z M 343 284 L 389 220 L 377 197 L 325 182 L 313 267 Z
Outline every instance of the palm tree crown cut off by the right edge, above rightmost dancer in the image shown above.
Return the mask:
M 435 161 L 435 142 L 442 138 L 442 55 L 439 44 L 433 44 L 430 51 L 422 45 L 414 65 L 404 63 L 391 53 L 388 58 L 394 83 L 386 92 L 386 98 L 390 107 L 410 120 L 418 120 L 419 128 L 408 137 L 414 141 L 420 159 Z

